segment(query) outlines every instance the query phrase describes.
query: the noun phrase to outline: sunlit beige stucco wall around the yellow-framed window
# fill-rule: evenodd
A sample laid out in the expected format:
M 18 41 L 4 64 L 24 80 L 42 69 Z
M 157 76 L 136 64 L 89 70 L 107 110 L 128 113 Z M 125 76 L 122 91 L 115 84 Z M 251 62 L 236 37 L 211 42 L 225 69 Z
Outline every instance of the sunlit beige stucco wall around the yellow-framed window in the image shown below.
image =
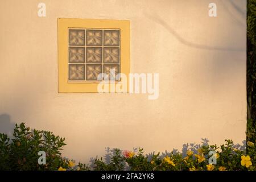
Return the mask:
M 37 15 L 38 3 L 47 7 Z M 208 16 L 210 2 L 217 18 Z M 15 122 L 66 138 L 63 155 L 88 162 L 105 147 L 171 151 L 246 138 L 246 2 L 1 0 L 0 132 Z M 131 72 L 159 73 L 147 94 L 59 94 L 57 18 L 126 19 Z

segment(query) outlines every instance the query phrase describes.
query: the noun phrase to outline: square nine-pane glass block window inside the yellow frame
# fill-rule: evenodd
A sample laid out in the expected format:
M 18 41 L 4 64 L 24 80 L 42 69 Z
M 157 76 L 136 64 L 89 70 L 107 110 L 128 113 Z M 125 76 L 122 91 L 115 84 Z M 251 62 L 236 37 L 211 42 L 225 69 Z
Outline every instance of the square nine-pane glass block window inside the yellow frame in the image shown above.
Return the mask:
M 110 70 L 114 72 L 110 72 Z M 120 73 L 120 30 L 69 28 L 68 81 L 116 80 Z

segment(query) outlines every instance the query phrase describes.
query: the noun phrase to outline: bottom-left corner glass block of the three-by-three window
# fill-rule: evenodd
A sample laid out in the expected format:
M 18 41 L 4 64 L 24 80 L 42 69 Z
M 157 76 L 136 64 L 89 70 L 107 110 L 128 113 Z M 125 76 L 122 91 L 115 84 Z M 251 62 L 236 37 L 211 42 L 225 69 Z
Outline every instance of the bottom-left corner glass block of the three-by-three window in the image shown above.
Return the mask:
M 84 80 L 84 64 L 69 64 L 68 69 L 68 80 Z

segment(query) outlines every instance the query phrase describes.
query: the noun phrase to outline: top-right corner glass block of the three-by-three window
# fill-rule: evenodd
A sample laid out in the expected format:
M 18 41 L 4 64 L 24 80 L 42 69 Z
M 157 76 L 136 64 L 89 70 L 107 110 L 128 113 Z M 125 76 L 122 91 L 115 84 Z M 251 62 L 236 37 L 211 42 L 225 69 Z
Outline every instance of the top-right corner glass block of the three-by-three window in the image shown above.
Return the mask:
M 119 30 L 104 30 L 104 46 L 119 46 Z

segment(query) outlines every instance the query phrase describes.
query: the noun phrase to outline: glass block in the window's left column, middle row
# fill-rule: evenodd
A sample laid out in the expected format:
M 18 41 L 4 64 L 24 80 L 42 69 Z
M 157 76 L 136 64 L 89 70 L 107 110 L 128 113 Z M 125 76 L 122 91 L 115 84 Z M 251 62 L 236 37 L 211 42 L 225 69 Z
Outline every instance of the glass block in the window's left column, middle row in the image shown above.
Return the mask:
M 84 47 L 69 47 L 69 63 L 84 63 Z

